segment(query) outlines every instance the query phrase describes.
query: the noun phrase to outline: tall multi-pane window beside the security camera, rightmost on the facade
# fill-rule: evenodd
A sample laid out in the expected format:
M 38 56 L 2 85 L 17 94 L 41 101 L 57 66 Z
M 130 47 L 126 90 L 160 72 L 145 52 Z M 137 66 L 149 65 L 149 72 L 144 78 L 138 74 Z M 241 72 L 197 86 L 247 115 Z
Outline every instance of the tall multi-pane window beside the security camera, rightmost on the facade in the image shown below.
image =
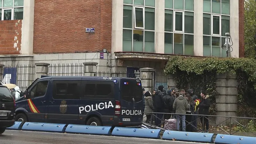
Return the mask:
M 230 0 L 203 0 L 203 56 L 226 57 Z

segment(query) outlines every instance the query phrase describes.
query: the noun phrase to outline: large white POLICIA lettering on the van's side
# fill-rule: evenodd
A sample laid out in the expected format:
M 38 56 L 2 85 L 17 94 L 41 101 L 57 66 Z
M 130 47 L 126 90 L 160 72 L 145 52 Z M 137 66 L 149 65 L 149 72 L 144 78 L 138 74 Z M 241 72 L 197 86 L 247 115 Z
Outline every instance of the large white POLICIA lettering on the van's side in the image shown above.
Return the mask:
M 95 105 L 87 105 L 85 107 L 79 107 L 79 114 L 81 114 L 82 111 L 90 112 L 90 111 L 96 111 L 98 109 L 104 109 L 104 108 L 107 109 L 107 108 L 110 108 L 110 107 L 114 108 L 111 101 L 108 102 L 108 105 L 107 105 L 107 102 L 105 102 L 105 104 L 101 102 L 101 103 L 95 104 Z

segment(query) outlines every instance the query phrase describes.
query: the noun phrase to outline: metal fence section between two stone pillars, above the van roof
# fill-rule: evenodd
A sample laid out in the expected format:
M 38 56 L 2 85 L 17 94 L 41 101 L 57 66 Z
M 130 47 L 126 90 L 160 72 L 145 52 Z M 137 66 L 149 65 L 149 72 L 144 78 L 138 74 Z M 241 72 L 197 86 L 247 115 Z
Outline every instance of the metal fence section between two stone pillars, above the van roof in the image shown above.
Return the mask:
M 48 66 L 48 76 L 84 76 L 84 65 L 79 64 L 51 64 Z

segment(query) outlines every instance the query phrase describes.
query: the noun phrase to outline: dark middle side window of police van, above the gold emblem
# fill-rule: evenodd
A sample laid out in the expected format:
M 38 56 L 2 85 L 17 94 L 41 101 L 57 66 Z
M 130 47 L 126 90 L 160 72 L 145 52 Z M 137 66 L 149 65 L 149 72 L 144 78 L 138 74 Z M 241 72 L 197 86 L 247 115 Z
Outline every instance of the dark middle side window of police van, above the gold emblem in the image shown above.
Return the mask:
M 79 99 L 79 85 L 81 81 L 74 80 L 54 80 L 53 99 Z

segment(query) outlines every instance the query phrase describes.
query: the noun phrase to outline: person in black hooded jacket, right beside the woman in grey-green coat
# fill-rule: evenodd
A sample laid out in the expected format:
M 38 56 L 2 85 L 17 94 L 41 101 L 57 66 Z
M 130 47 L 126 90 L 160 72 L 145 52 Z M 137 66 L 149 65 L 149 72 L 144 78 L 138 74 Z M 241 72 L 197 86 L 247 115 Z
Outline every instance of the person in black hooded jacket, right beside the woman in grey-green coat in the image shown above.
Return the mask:
M 163 97 L 164 97 L 164 86 L 160 85 L 158 86 L 158 90 L 156 91 L 156 94 L 153 97 L 153 104 L 155 108 L 156 113 L 163 113 Z M 155 125 L 161 127 L 161 121 L 163 118 L 163 114 L 156 114 L 155 119 Z

